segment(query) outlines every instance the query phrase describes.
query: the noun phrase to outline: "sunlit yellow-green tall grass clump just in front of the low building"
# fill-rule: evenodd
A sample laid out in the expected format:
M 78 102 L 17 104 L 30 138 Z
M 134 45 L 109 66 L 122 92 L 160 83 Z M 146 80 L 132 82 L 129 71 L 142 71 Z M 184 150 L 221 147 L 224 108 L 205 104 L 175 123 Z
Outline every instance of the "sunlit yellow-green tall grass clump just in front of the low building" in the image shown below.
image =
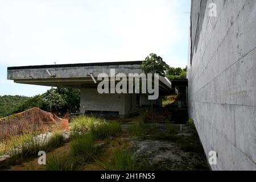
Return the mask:
M 104 139 L 115 137 L 121 131 L 121 124 L 119 122 L 106 122 L 102 118 L 81 115 L 73 119 L 71 131 L 73 135 L 92 133 L 94 138 Z

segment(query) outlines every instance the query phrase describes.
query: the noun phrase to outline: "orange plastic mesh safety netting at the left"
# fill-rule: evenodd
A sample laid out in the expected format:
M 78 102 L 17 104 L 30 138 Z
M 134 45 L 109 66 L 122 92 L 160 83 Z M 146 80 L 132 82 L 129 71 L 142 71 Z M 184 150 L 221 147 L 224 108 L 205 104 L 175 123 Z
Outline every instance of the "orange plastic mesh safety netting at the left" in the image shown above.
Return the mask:
M 61 119 L 37 107 L 0 118 L 0 142 L 27 133 L 45 133 L 51 130 L 68 130 L 68 119 Z

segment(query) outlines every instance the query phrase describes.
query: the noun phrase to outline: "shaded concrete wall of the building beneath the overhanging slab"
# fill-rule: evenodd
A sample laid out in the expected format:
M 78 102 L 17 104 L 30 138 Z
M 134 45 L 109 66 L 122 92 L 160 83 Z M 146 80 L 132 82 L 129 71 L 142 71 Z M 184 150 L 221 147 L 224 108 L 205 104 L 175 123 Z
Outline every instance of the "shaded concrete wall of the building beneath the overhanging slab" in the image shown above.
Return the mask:
M 97 89 L 81 89 L 80 113 L 90 111 L 118 111 L 121 118 L 136 113 L 135 94 L 100 94 Z

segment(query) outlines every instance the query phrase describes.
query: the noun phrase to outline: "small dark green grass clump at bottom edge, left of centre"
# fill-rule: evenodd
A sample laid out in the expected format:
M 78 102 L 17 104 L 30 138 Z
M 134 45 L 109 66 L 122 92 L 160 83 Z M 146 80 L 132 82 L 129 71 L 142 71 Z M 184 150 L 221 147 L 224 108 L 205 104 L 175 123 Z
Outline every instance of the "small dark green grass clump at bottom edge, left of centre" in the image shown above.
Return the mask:
M 72 171 L 77 167 L 77 162 L 71 155 L 64 152 L 64 154 L 52 154 L 47 156 L 46 170 L 47 171 Z

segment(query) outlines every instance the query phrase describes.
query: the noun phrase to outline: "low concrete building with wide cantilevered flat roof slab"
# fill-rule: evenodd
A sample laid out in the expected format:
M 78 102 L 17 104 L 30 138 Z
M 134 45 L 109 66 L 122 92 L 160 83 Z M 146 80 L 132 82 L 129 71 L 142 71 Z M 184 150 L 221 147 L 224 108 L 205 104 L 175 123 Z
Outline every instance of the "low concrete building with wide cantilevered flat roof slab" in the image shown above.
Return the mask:
M 80 112 L 112 112 L 120 117 L 129 117 L 136 112 L 136 94 L 99 94 L 97 76 L 115 69 L 115 75 L 141 74 L 142 61 L 36 65 L 7 68 L 7 78 L 19 84 L 32 84 L 81 89 Z M 91 75 L 96 80 L 92 79 Z M 159 94 L 175 93 L 170 80 L 159 77 Z

